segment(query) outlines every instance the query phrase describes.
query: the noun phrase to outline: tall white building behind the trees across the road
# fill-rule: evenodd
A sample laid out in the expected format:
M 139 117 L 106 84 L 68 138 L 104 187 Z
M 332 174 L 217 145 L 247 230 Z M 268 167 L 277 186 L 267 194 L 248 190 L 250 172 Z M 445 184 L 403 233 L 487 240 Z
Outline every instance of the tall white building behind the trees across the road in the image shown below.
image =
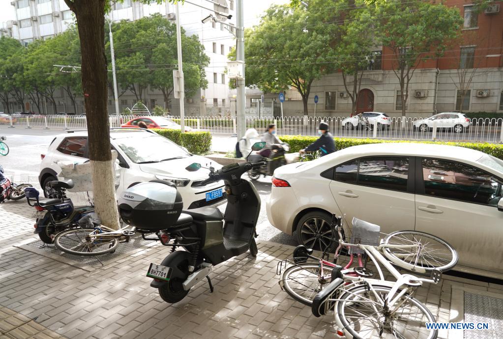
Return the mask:
M 199 41 L 204 45 L 206 54 L 210 58 L 210 63 L 206 67 L 206 78 L 208 88 L 200 90 L 193 98 L 187 98 L 186 115 L 191 114 L 229 114 L 233 92 L 227 86 L 227 76 L 225 67 L 227 64 L 227 54 L 235 46 L 234 36 L 220 23 L 206 22 L 201 20 L 213 13 L 213 3 L 206 0 L 191 0 L 180 5 L 180 21 L 187 35 L 199 36 Z M 207 9 L 195 6 L 200 5 Z M 0 25 L 0 36 L 10 36 L 20 40 L 23 44 L 29 44 L 35 39 L 48 39 L 63 32 L 68 26 L 74 24 L 72 12 L 68 9 L 63 0 L 16 0 L 11 5 L 15 7 L 16 18 L 12 21 Z M 157 5 L 151 1 L 149 5 L 143 5 L 134 0 L 124 0 L 123 3 L 113 5 L 110 14 L 113 21 L 137 20 L 155 13 L 160 13 L 166 18 L 175 20 L 176 5 L 166 2 Z M 234 0 L 227 0 L 229 14 L 232 19 L 229 23 L 235 24 L 235 4 Z M 121 91 L 119 91 L 121 92 Z M 109 93 L 109 112 L 115 112 L 113 105 L 113 93 Z M 162 106 L 162 95 L 155 90 L 147 90 L 147 107 L 152 109 L 155 105 Z M 63 111 L 69 105 L 69 100 L 65 100 L 61 93 L 58 100 L 58 111 Z M 77 114 L 83 111 L 83 101 L 78 100 Z M 125 109 L 136 102 L 132 93 L 126 92 L 119 98 L 120 108 Z M 0 104 L 1 105 L 1 104 Z M 16 104 L 14 104 L 16 105 Z M 19 105 L 18 105 L 19 106 Z M 1 106 L 0 106 L 1 107 Z M 70 107 L 70 106 L 68 106 Z M 172 98 L 170 109 L 173 114 L 178 114 L 178 99 Z M 14 106 L 13 110 L 19 110 Z M 28 110 L 28 108 L 23 108 Z M 73 111 L 69 109 L 69 111 Z M 53 113 L 49 106 L 48 113 Z

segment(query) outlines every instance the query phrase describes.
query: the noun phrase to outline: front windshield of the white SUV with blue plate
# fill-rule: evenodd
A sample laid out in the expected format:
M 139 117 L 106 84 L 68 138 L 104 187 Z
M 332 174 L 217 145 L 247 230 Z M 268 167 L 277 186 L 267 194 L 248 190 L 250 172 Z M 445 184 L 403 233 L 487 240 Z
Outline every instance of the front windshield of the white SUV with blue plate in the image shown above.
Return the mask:
M 135 163 L 160 162 L 191 156 L 190 153 L 174 142 L 155 134 L 119 138 L 115 139 L 115 141 L 120 149 Z

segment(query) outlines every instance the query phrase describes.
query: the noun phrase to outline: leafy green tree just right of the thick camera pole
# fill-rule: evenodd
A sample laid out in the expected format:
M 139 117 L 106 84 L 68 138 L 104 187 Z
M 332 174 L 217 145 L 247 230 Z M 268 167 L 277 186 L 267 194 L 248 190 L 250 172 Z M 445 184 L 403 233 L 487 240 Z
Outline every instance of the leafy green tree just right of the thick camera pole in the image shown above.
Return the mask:
M 295 88 L 304 114 L 311 84 L 333 70 L 331 38 L 323 23 L 309 24 L 301 8 L 271 6 L 259 26 L 245 31 L 246 86 L 264 92 Z

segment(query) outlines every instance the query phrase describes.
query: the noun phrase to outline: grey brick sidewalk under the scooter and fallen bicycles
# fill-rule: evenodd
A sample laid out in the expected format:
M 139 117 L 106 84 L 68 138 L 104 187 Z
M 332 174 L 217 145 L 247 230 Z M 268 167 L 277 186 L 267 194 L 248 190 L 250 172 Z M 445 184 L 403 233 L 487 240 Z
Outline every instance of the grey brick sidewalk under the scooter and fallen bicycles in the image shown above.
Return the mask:
M 20 321 L 33 330 L 100 339 L 334 337 L 333 316 L 312 316 L 309 307 L 279 287 L 276 265 L 291 257 L 292 246 L 260 242 L 257 258 L 245 253 L 215 268 L 210 275 L 214 293 L 206 281 L 200 282 L 182 302 L 171 305 L 145 277 L 149 263 L 160 263 L 170 248 L 140 248 L 84 271 L 15 247 L 34 237 L 31 212 L 24 202 L 0 205 L 0 306 L 19 313 Z M 416 295 L 439 321 L 449 320 L 452 286 L 501 292 L 499 285 L 444 278 L 439 285 L 426 284 Z M 17 335 L 29 337 L 27 331 Z

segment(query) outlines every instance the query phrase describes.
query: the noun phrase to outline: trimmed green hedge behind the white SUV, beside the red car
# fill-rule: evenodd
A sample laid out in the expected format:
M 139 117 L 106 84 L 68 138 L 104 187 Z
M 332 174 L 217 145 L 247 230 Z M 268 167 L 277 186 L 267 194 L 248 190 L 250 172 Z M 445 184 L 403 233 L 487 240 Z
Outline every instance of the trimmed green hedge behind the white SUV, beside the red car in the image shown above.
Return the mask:
M 185 132 L 182 134 L 178 129 L 153 129 L 153 131 L 180 146 L 184 146 L 192 154 L 204 155 L 211 151 L 210 132 Z

